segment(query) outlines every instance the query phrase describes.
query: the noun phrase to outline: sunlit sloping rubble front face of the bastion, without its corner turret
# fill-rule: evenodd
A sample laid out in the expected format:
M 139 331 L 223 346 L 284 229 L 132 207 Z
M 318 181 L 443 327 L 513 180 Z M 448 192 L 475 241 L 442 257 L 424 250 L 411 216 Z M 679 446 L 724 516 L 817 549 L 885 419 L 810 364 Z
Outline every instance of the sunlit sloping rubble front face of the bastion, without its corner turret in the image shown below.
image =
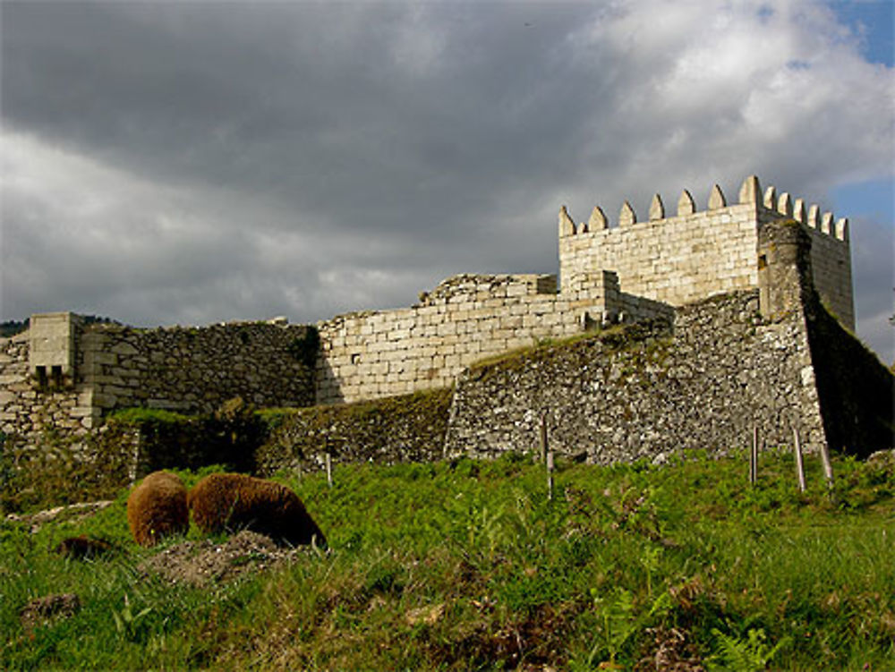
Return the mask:
M 460 377 L 446 454 L 529 451 L 546 415 L 550 446 L 594 463 L 749 445 L 808 450 L 824 430 L 804 321 L 763 319 L 758 293 L 722 294 L 678 309 L 673 327 L 615 327 L 569 345 L 521 353 Z

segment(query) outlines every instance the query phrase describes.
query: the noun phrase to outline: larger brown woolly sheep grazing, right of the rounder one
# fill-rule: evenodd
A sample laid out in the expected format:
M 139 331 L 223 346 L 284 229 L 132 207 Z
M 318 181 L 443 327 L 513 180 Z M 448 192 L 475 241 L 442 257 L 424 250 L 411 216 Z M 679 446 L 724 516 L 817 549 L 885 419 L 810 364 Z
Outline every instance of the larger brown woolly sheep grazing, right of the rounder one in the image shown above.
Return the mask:
M 326 546 L 326 538 L 291 489 L 241 473 L 213 473 L 190 491 L 192 521 L 202 532 L 249 529 L 277 543 Z M 313 540 L 313 541 L 311 541 Z

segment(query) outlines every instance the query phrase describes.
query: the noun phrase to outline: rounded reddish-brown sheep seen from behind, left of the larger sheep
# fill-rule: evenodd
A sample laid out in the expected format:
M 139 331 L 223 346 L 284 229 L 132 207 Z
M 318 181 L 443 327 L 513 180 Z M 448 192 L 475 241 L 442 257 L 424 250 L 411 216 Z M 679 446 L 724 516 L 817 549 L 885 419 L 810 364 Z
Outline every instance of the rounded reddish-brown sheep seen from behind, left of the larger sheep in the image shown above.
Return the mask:
M 186 533 L 190 512 L 183 481 L 171 472 L 150 473 L 127 498 L 127 523 L 141 546 L 153 546 L 163 537 Z

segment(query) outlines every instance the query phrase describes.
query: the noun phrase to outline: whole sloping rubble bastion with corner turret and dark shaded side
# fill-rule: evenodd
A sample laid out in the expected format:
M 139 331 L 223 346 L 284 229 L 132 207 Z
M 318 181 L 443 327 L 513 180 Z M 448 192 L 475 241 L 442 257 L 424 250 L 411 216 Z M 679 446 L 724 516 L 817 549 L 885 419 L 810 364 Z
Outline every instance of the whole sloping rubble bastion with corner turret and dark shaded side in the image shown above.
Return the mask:
M 604 464 L 726 453 L 755 427 L 767 446 L 790 446 L 795 429 L 809 451 L 891 447 L 895 380 L 823 308 L 814 233 L 793 221 L 761 234 L 760 291 L 679 307 L 673 326 L 643 322 L 466 370 L 446 454 L 533 451 L 542 416 L 560 455 Z

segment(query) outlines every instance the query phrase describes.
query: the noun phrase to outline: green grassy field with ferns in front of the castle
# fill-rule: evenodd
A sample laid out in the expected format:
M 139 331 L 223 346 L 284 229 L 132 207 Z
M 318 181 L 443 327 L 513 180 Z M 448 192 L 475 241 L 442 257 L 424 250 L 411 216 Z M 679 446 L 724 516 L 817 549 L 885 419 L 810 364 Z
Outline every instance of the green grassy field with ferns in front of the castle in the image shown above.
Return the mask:
M 664 642 L 710 669 L 891 669 L 891 464 L 836 460 L 830 498 L 808 463 L 804 494 L 788 455 L 755 488 L 743 459 L 561 463 L 552 501 L 521 455 L 284 477 L 331 552 L 203 589 L 137 572 L 160 549 L 130 540 L 126 493 L 34 535 L 2 523 L 0 668 L 646 670 Z M 48 550 L 75 533 L 120 550 Z M 53 592 L 81 610 L 24 630 Z

